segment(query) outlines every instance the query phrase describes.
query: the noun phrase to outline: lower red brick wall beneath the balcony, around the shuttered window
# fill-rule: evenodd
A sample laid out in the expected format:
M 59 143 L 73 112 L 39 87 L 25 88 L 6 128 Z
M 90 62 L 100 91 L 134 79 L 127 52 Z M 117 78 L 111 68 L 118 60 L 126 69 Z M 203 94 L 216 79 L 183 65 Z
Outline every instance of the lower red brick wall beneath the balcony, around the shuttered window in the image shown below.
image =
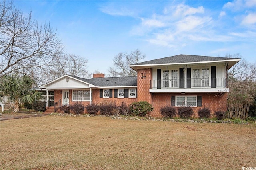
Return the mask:
M 153 107 L 154 110 L 152 111 L 151 115 L 154 117 L 161 117 L 160 109 L 166 105 L 171 105 L 171 96 L 176 96 L 181 94 L 173 94 L 173 93 L 166 93 L 160 94 L 155 93 L 152 95 L 153 100 Z M 214 116 L 214 112 L 218 109 L 222 111 L 227 110 L 227 93 L 220 94 L 220 93 L 191 93 L 186 95 L 197 95 L 202 96 L 202 107 L 209 107 L 211 110 L 211 116 Z M 185 95 L 185 96 L 186 96 Z M 202 107 L 193 107 L 195 117 L 198 117 L 198 109 Z M 178 108 L 178 107 L 176 107 Z

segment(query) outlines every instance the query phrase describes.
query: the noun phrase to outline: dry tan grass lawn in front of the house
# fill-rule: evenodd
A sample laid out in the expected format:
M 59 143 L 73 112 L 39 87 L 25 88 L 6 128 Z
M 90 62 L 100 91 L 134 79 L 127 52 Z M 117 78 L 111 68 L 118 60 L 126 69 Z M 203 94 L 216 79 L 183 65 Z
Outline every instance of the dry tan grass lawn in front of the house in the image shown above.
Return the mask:
M 256 124 L 44 116 L 0 121 L 0 169 L 256 167 Z

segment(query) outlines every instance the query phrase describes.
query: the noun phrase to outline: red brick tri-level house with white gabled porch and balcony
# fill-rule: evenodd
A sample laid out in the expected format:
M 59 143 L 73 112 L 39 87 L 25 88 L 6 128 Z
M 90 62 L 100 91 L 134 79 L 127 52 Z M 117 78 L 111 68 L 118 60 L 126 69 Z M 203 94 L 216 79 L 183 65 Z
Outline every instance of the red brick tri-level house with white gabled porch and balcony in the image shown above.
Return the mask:
M 160 117 L 166 105 L 209 107 L 212 111 L 227 109 L 227 71 L 240 59 L 197 55 L 176 55 L 132 64 L 136 77 L 110 77 L 94 74 L 92 79 L 64 75 L 41 89 L 54 91 L 54 103 L 84 105 L 104 100 L 127 104 L 147 101 L 154 107 L 152 116 Z M 47 96 L 47 95 L 46 95 Z M 48 99 L 48 97 L 47 97 Z

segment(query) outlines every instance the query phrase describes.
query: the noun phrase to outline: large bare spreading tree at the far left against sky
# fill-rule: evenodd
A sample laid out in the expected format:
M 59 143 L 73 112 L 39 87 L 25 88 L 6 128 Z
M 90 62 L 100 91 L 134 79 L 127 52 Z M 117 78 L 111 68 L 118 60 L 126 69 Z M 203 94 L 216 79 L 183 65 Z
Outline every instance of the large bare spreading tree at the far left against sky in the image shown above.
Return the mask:
M 12 2 L 0 1 L 0 77 L 46 69 L 63 47 L 50 24 L 40 25 Z

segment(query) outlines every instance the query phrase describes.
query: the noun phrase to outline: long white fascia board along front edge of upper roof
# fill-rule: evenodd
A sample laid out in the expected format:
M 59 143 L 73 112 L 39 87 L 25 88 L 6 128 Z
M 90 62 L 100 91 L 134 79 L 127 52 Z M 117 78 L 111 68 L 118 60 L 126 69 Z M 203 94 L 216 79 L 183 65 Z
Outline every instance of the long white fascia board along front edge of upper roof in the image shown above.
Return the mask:
M 204 63 L 220 63 L 229 61 L 240 61 L 241 59 L 217 60 L 217 61 L 200 61 L 187 63 L 164 63 L 164 64 L 145 64 L 145 65 L 129 65 L 129 67 L 146 67 L 146 66 L 166 66 L 166 65 L 182 65 L 182 64 L 204 64 Z

